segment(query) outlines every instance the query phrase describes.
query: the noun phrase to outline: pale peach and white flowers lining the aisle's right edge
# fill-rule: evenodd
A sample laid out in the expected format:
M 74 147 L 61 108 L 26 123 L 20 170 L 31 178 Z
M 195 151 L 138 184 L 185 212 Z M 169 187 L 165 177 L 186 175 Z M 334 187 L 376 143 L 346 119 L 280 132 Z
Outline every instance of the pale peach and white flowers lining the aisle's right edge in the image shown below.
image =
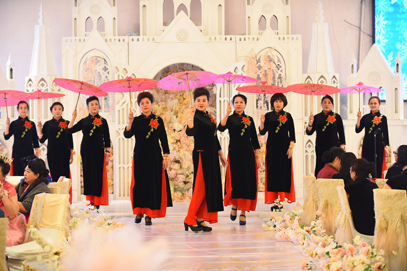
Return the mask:
M 284 208 L 284 215 L 272 215 L 270 221 L 265 221 L 263 228 L 276 231 L 277 239 L 298 245 L 304 255 L 311 257 L 309 261 L 301 263 L 301 268 L 334 271 L 386 269 L 384 250 L 368 245 L 359 235 L 353 240 L 354 244 L 344 243 L 340 246 L 335 242 L 334 236 L 324 233 L 321 211 L 317 211 L 315 221 L 306 226 L 296 214 L 300 208 L 302 207 L 298 202 L 295 210 Z

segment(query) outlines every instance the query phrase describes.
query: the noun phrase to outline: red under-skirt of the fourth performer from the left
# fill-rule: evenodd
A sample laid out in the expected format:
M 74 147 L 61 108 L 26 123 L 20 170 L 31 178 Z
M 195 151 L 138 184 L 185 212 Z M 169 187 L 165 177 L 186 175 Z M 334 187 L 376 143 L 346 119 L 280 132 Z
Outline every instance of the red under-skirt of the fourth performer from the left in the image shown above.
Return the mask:
M 130 185 L 130 200 L 131 206 L 133 206 L 133 188 L 134 188 L 134 157 L 132 161 L 132 174 L 131 174 L 131 185 Z M 162 186 L 161 186 L 161 206 L 159 210 L 151 210 L 150 208 L 133 208 L 134 215 L 146 215 L 151 218 L 165 217 L 167 213 L 167 180 L 165 179 L 165 172 L 162 171 Z

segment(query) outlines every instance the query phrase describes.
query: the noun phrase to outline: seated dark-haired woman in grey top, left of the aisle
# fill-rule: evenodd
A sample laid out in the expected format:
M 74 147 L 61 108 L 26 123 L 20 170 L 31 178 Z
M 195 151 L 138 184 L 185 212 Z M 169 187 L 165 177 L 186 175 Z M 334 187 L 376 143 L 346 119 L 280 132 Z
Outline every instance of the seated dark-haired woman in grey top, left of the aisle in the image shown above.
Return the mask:
M 24 180 L 16 187 L 18 195 L 18 208 L 26 220 L 30 216 L 34 197 L 40 193 L 50 193 L 47 178 L 49 171 L 44 160 L 37 158 L 27 162 L 24 170 Z

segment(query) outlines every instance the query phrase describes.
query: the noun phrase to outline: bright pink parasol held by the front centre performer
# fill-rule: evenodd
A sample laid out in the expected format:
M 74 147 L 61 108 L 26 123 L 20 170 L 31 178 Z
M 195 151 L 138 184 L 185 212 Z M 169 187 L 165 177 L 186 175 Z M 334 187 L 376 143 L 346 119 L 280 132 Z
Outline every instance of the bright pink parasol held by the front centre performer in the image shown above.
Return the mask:
M 164 77 L 158 81 L 158 87 L 173 91 L 188 90 L 192 106 L 191 88 L 205 87 L 212 84 L 216 78 L 217 75 L 211 72 L 185 71 Z

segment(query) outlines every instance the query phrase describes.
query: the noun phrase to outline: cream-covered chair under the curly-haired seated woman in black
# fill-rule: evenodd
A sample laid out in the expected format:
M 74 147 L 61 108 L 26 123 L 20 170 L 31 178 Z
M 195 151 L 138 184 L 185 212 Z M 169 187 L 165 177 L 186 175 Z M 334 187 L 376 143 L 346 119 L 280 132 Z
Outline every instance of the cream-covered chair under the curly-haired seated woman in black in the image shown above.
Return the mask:
M 338 192 L 338 197 L 340 201 L 341 211 L 335 219 L 335 226 L 337 227 L 335 233 L 335 241 L 338 245 L 343 245 L 343 243 L 353 243 L 353 239 L 359 235 L 362 240 L 368 244 L 373 243 L 373 235 L 365 235 L 358 232 L 353 223 L 352 211 L 349 206 L 349 200 L 347 199 L 346 191 L 344 187 L 336 187 Z

